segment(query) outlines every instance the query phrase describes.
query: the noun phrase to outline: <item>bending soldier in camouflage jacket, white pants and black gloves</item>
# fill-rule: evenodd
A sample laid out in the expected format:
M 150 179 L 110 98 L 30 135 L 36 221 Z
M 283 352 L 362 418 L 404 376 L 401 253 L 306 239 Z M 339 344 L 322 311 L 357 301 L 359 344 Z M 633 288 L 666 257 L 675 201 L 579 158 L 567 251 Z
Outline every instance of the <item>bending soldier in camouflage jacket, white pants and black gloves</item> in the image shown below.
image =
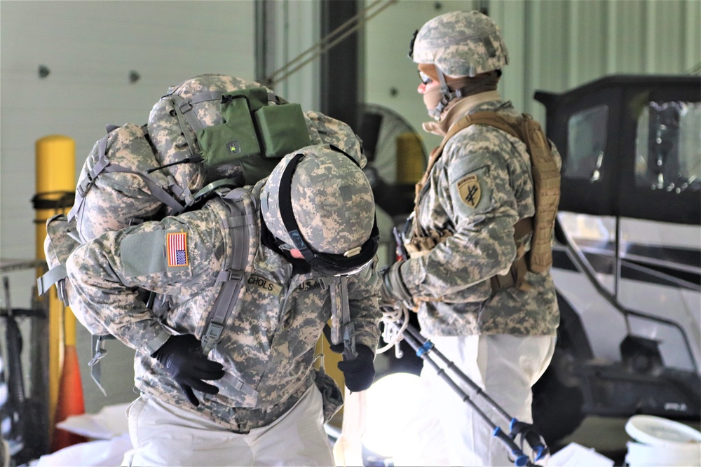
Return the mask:
M 132 465 L 334 464 L 312 365 L 341 282 L 357 353 L 339 363 L 348 389 L 372 383 L 379 339 L 374 200 L 354 156 L 302 148 L 255 186 L 224 188 L 200 209 L 104 232 L 69 256 L 81 322 L 99 323 L 137 351 Z M 224 196 L 244 213 L 232 216 Z M 297 230 L 286 224 L 290 215 Z M 242 223 L 247 235 L 229 234 Z M 205 354 L 210 312 L 222 280 L 231 279 L 222 273 L 241 248 L 243 287 Z M 151 309 L 144 290 L 168 301 Z

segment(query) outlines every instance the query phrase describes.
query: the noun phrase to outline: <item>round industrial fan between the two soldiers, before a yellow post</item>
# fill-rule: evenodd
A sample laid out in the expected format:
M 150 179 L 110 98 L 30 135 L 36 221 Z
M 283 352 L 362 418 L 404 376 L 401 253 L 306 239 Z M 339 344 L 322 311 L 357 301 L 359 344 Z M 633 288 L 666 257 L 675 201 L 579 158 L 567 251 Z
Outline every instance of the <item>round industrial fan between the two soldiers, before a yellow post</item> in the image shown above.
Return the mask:
M 376 204 L 390 216 L 414 208 L 414 186 L 426 169 L 421 136 L 402 116 L 377 104 L 362 104 L 360 139 L 367 156 L 365 174 Z

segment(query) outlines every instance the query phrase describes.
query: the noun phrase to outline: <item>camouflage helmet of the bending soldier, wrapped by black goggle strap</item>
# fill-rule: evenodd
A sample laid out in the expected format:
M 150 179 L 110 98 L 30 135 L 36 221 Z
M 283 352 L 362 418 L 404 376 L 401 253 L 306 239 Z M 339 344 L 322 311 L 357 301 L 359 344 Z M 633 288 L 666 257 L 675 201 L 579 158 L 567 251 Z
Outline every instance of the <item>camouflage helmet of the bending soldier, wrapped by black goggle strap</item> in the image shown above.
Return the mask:
M 297 165 L 287 182 L 289 199 L 306 244 L 318 253 L 346 257 L 358 253 L 374 228 L 372 188 L 358 164 L 333 146 L 301 148 L 275 166 L 261 188 L 261 211 L 268 230 L 278 241 L 298 248 L 280 209 L 285 169 L 292 162 Z

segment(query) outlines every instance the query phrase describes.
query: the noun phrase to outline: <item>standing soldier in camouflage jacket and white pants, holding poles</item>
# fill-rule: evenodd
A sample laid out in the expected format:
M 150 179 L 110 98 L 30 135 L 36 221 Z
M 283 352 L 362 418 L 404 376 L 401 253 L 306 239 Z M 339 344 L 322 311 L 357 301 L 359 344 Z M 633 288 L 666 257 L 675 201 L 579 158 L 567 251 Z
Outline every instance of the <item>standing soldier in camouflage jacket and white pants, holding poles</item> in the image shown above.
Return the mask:
M 521 115 L 496 90 L 508 54 L 486 15 L 451 12 L 429 20 L 416 32 L 410 56 L 421 76 L 418 92 L 435 120 L 424 130 L 446 137 L 466 114 Z M 448 135 L 418 186 L 413 237 L 405 243 L 410 258 L 383 270 L 381 290 L 384 303 L 414 307 L 423 335 L 506 412 L 526 422 L 532 421 L 531 386 L 554 351 L 559 324 L 554 286 L 547 271 L 528 271 L 524 282 L 505 286 L 495 286 L 492 278 L 529 251 L 530 232 L 515 236 L 515 225 L 535 210 L 522 141 L 488 125 Z M 421 379 L 428 397 L 421 405 L 422 426 L 430 426 L 435 410 L 433 422 L 443 433 L 434 439 L 444 438 L 445 450 L 435 445 L 415 450 L 421 457 L 409 459 L 411 465 L 512 463 L 504 445 L 433 368 L 426 365 Z M 430 438 L 428 433 L 418 442 Z

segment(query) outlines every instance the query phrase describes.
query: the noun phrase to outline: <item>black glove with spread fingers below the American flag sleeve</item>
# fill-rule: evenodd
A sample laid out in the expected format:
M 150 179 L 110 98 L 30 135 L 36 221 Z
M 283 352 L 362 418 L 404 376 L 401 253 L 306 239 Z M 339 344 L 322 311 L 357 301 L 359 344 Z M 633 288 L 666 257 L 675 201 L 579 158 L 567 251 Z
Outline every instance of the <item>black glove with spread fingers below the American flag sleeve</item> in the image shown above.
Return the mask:
M 224 377 L 224 367 L 222 363 L 208 360 L 204 356 L 202 344 L 197 337 L 191 334 L 172 335 L 151 356 L 165 367 L 195 407 L 200 405 L 200 401 L 195 397 L 193 389 L 207 394 L 219 392 L 217 386 L 205 383 L 203 379 L 212 381 Z

